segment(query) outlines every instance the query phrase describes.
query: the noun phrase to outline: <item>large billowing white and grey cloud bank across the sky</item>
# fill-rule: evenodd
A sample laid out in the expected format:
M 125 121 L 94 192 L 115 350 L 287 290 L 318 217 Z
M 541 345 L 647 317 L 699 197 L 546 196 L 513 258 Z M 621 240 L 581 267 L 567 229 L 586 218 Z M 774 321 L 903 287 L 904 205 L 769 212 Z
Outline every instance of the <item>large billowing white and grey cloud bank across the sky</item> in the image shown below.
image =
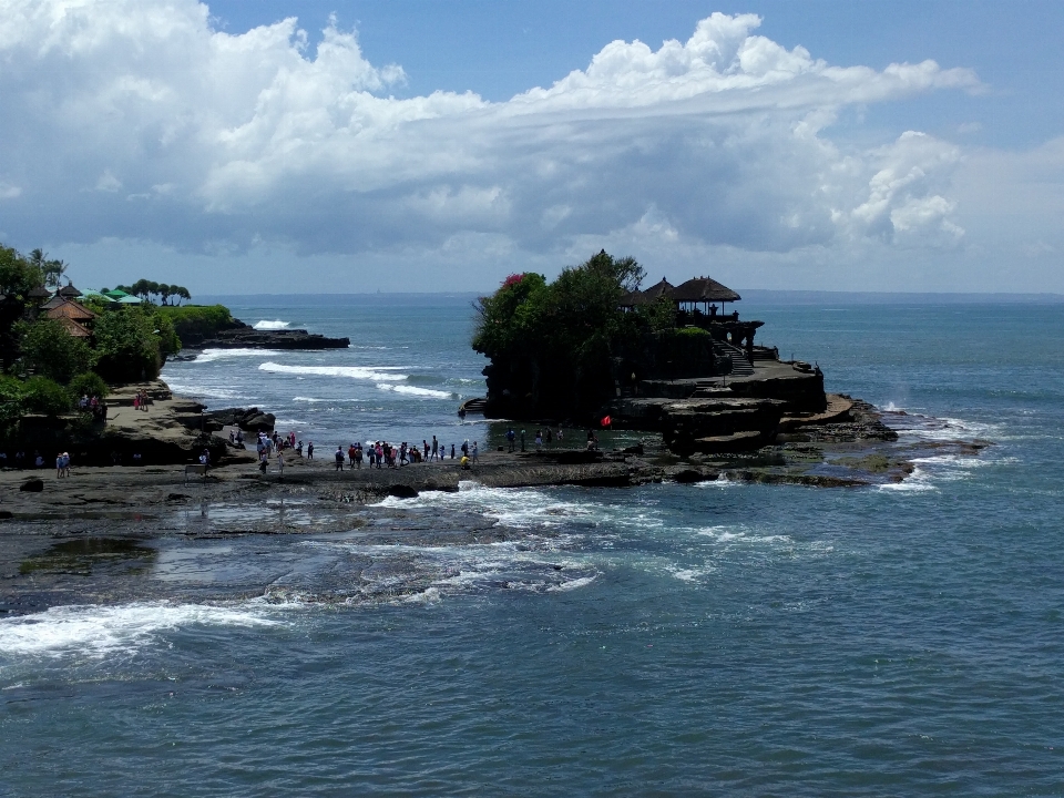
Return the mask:
M 391 96 L 401 66 L 369 63 L 335 23 L 311 48 L 295 19 L 234 35 L 194 0 L 0 0 L 6 228 L 444 257 L 611 235 L 775 253 L 961 241 L 952 145 L 906 133 L 861 150 L 825 131 L 846 106 L 975 91 L 975 75 L 831 65 L 759 23 L 714 13 L 686 42 L 611 42 L 491 103 Z

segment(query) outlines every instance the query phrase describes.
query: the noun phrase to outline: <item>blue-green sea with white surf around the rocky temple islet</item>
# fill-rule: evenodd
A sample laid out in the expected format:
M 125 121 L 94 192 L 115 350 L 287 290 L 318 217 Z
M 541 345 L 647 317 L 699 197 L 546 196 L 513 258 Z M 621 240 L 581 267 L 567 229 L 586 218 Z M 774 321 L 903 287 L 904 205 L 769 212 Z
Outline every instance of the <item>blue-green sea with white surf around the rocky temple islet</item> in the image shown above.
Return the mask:
M 354 347 L 209 354 L 175 389 L 318 446 L 484 431 L 453 415 L 482 392 L 468 298 L 234 310 Z M 512 532 L 491 544 L 163 541 L 146 580 L 287 601 L 0 620 L 0 796 L 1064 794 L 1064 308 L 741 311 L 829 390 L 934 419 L 903 438 L 994 446 L 890 488 L 470 484 L 374 511 Z M 301 597 L 356 556 L 423 590 Z

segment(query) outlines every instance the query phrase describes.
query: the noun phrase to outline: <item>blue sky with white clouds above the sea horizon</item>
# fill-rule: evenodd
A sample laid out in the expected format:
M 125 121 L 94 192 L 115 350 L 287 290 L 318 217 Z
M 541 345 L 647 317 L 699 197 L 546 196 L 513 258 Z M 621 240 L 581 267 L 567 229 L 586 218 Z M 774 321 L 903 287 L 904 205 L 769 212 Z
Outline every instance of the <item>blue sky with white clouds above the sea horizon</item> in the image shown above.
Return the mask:
M 1064 3 L 0 0 L 0 243 L 80 287 L 1064 293 Z

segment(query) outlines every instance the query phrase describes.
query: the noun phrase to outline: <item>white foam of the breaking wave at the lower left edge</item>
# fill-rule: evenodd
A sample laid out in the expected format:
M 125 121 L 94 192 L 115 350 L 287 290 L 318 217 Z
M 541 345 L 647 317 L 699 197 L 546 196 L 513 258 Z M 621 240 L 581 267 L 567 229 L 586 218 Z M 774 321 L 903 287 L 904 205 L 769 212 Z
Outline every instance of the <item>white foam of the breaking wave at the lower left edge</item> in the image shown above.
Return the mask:
M 0 654 L 104 656 L 150 644 L 161 632 L 188 626 L 276 625 L 277 621 L 250 607 L 163 603 L 60 606 L 0 620 Z

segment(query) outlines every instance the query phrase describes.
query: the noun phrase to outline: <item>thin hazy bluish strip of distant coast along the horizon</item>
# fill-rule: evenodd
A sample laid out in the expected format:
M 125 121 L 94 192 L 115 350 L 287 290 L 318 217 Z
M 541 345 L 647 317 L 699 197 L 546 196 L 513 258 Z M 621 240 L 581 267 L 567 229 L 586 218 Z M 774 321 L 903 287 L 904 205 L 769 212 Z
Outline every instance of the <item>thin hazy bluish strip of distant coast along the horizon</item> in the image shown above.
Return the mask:
M 415 303 L 436 301 L 449 297 L 460 299 L 468 297 L 470 301 L 477 297 L 490 294 L 492 289 L 482 291 L 350 291 L 339 294 L 202 294 L 193 297 L 194 304 L 205 305 L 221 303 L 223 305 L 264 304 L 273 305 L 278 300 L 297 303 L 299 305 L 346 305 L 352 299 L 375 300 L 388 304 L 396 301 Z M 897 303 L 914 303 L 919 305 L 1057 305 L 1064 304 L 1064 294 L 1043 293 L 972 293 L 972 291 L 829 291 L 829 290 L 778 290 L 769 288 L 737 288 L 738 294 L 747 301 L 761 304 L 785 305 L 818 305 L 820 303 L 847 303 L 852 305 L 891 305 Z

